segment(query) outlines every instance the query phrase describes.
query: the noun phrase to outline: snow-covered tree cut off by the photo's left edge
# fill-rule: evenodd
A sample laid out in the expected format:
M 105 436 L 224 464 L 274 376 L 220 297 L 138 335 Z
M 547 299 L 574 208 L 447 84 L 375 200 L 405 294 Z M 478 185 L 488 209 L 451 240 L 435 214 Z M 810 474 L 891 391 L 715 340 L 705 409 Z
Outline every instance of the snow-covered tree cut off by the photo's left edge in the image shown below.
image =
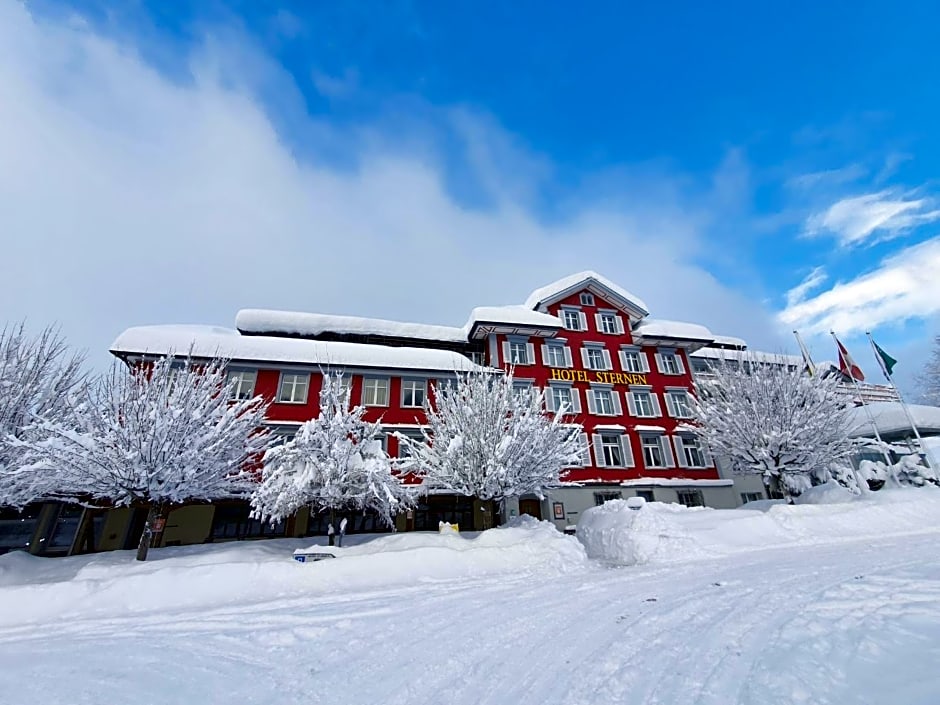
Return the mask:
M 83 362 L 55 328 L 36 336 L 23 324 L 0 331 L 0 506 L 22 507 L 54 494 L 48 476 L 19 472 L 34 461 L 23 443 L 41 437 L 40 421 L 68 414 L 85 380 Z

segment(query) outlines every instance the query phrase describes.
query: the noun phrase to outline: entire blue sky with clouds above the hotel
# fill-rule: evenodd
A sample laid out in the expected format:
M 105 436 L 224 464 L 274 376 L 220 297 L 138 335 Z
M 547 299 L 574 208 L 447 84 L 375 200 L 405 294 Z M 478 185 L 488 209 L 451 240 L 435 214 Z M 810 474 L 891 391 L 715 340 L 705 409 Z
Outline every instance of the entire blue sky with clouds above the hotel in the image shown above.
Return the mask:
M 0 225 L 81 233 L 101 272 L 10 317 L 92 349 L 241 306 L 461 323 L 591 268 L 755 347 L 831 359 L 835 327 L 873 377 L 866 328 L 908 374 L 940 332 L 934 3 L 111 5 L 0 0 L 0 90 L 30 97 L 0 108 Z M 37 216 L 55 188 L 68 219 Z

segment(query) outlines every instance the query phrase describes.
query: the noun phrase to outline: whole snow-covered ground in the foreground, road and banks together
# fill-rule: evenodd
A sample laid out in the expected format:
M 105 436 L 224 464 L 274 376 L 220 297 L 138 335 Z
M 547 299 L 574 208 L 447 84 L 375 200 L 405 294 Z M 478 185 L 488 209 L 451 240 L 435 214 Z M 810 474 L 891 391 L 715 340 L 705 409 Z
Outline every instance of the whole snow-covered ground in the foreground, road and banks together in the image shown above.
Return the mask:
M 708 550 L 632 567 L 534 522 L 7 555 L 0 703 L 940 702 L 940 492 L 673 514 Z

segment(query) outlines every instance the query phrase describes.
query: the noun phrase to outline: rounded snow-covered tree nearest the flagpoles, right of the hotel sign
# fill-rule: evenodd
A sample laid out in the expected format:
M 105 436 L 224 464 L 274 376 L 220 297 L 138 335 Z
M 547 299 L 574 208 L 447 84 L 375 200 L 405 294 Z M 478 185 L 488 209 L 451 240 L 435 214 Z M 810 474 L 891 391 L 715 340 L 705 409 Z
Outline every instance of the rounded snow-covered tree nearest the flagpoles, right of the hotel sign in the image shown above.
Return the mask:
M 742 353 L 696 381 L 694 430 L 737 473 L 789 496 L 852 453 L 835 377 L 808 376 Z

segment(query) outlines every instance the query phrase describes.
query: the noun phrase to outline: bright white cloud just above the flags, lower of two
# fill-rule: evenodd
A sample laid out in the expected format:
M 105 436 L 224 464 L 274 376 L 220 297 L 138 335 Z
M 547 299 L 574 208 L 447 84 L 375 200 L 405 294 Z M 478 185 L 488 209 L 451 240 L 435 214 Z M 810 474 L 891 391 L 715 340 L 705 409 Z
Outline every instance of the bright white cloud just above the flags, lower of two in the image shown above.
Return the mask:
M 940 312 L 940 237 L 908 247 L 874 271 L 794 303 L 780 320 L 807 333 L 852 334 Z

